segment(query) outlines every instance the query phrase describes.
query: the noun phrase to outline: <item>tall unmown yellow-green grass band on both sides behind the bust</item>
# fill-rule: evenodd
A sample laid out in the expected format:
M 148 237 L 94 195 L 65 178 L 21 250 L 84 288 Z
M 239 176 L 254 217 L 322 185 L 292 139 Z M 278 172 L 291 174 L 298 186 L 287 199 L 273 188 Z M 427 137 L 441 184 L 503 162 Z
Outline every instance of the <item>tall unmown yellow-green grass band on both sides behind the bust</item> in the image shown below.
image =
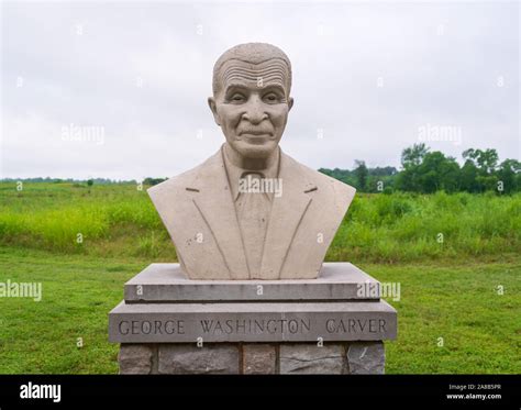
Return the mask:
M 176 258 L 145 188 L 134 185 L 25 184 L 16 191 L 14 184 L 0 184 L 0 244 Z M 326 261 L 496 261 L 520 251 L 521 193 L 373 193 L 355 197 Z

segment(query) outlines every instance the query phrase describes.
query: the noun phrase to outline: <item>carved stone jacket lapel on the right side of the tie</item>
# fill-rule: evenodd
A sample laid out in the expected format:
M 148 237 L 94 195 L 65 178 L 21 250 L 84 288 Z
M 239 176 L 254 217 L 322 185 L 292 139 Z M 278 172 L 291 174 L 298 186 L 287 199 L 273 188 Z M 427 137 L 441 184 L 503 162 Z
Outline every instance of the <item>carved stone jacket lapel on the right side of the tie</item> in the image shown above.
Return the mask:
M 264 241 L 260 275 L 263 279 L 279 279 L 289 246 L 306 211 L 311 203 L 310 191 L 315 185 L 302 180 L 300 165 L 280 152 L 279 178 L 282 181 L 282 193 L 274 197 L 268 229 Z

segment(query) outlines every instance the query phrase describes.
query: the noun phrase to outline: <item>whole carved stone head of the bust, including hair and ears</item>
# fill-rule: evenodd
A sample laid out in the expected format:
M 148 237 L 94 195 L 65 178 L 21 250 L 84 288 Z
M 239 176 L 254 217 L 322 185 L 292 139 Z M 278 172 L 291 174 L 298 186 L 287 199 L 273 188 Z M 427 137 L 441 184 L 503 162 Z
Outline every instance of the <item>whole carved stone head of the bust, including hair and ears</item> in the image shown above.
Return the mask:
M 290 97 L 291 63 L 265 43 L 236 45 L 213 67 L 213 118 L 228 142 L 228 153 L 242 160 L 266 160 L 282 137 Z

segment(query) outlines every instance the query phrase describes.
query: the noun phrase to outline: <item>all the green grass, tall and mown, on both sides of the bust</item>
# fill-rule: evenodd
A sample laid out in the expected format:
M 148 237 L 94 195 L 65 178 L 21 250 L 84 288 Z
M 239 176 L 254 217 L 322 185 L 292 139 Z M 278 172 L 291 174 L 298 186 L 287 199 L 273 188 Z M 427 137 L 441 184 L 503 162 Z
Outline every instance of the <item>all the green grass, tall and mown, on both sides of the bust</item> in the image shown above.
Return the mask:
M 43 284 L 41 301 L 0 298 L 0 374 L 117 373 L 108 312 L 176 261 L 145 189 L 0 182 L 0 282 Z M 387 373 L 519 374 L 520 251 L 521 195 L 362 193 L 326 259 L 400 282 Z

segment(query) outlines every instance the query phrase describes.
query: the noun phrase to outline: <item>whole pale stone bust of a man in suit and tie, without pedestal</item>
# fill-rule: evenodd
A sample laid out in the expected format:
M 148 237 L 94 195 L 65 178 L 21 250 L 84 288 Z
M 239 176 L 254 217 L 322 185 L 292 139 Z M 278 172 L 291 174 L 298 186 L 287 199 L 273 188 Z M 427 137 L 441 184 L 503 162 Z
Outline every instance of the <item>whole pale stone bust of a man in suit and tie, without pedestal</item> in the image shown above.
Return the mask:
M 208 99 L 226 141 L 148 189 L 190 279 L 317 278 L 355 189 L 280 149 L 290 89 L 291 64 L 278 47 L 226 51 Z

